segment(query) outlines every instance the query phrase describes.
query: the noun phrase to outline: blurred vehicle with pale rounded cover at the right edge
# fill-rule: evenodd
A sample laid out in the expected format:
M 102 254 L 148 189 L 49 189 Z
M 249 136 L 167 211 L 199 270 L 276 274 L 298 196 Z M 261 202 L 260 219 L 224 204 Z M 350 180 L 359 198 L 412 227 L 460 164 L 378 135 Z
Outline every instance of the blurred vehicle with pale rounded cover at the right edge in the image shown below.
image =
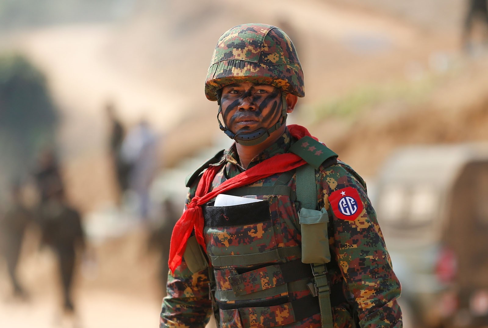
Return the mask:
M 488 144 L 401 148 L 374 191 L 404 327 L 488 326 Z

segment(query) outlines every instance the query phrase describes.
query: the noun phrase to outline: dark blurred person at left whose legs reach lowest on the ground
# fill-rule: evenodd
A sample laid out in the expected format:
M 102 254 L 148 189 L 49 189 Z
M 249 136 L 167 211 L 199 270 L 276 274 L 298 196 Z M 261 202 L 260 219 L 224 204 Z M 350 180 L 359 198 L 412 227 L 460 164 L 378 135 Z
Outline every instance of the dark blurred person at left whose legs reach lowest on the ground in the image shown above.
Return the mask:
M 86 248 L 81 214 L 66 200 L 62 189 L 50 189 L 48 200 L 41 206 L 38 223 L 41 228 L 41 246 L 54 251 L 61 278 L 63 309 L 74 312 L 71 290 L 78 254 Z

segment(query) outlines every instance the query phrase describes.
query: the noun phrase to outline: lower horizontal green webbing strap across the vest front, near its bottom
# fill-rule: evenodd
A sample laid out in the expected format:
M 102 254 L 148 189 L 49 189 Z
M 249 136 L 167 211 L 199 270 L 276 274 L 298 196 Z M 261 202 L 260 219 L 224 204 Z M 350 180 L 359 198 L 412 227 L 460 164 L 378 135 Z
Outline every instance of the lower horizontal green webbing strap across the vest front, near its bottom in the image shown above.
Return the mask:
M 304 291 L 308 290 L 307 284 L 310 283 L 310 278 L 303 279 L 299 281 L 289 282 L 280 286 L 276 286 L 275 288 L 264 289 L 260 291 L 256 291 L 254 293 L 250 293 L 247 295 L 236 296 L 232 289 L 229 290 L 216 290 L 215 291 L 215 298 L 218 301 L 246 301 L 246 300 L 254 300 L 258 298 L 276 296 L 282 293 L 293 292 L 293 291 Z

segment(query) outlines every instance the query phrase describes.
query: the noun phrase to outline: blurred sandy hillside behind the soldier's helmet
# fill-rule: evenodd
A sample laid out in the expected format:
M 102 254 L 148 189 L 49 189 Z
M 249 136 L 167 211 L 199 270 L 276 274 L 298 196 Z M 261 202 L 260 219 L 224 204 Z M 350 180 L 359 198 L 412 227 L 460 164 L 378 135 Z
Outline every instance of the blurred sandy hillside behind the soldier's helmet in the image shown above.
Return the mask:
M 375 173 L 395 146 L 392 140 L 409 140 L 402 136 L 404 130 L 386 126 L 395 126 L 405 116 L 418 117 L 408 113 L 420 111 L 424 119 L 405 133 L 421 129 L 425 135 L 416 140 L 442 141 L 431 138 L 431 125 L 446 113 L 455 121 L 453 112 L 476 107 L 473 101 L 485 94 L 484 59 L 473 61 L 460 54 L 464 9 L 459 0 L 449 5 L 433 0 L 401 5 L 381 0 L 310 0 L 300 5 L 266 1 L 259 11 L 223 0 L 195 1 L 192 6 L 150 0 L 103 3 L 91 18 L 82 14 L 69 20 L 72 14 L 63 16 L 60 7 L 56 15 L 66 19 L 11 29 L 2 37 L 3 48 L 25 52 L 49 78 L 64 117 L 60 138 L 66 175 L 73 180 L 73 196 L 84 206 L 111 199 L 104 155 L 106 101 L 114 101 L 128 126 L 142 116 L 150 119 L 164 138 L 164 167 L 222 137 L 215 122 L 216 104 L 203 96 L 203 80 L 216 40 L 240 23 L 275 24 L 291 36 L 304 66 L 306 97 L 290 121 L 306 123 L 312 134 L 363 174 Z M 71 7 L 91 12 L 90 7 Z M 472 88 L 461 87 L 467 80 Z M 468 94 L 451 92 L 460 88 Z M 446 99 L 451 96 L 456 101 Z M 454 104 L 456 109 L 444 110 Z M 192 133 L 196 130 L 198 136 Z M 385 131 L 400 135 L 385 138 Z M 450 135 L 447 141 L 468 137 Z M 370 158 L 366 161 L 364 149 Z M 90 169 L 93 165 L 97 170 Z M 97 183 L 87 183 L 90 180 Z M 81 185 L 92 186 L 96 193 L 77 193 Z M 87 194 L 97 194 L 97 199 Z

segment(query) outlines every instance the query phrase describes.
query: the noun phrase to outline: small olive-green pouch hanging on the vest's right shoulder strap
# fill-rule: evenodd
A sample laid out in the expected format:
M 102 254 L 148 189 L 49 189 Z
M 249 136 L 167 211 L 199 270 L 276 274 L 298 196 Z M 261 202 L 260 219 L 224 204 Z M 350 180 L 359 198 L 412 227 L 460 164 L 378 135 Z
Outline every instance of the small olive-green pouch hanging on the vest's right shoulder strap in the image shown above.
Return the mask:
M 298 212 L 302 229 L 302 262 L 328 263 L 330 261 L 327 223 L 329 216 L 321 211 L 302 208 Z

